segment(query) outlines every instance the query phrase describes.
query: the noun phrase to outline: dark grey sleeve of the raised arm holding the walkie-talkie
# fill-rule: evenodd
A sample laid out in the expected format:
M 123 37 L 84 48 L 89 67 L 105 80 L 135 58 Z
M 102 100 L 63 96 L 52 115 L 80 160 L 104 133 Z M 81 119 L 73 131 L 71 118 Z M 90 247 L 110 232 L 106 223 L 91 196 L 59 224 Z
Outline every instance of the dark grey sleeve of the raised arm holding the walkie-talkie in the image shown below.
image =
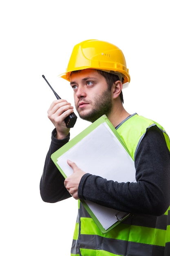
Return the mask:
M 51 154 L 69 141 L 70 135 L 65 139 L 55 138 L 56 130 L 51 135 L 51 145 L 46 155 L 44 170 L 40 180 L 40 195 L 44 202 L 58 202 L 71 197 L 64 186 L 64 177 L 51 160 Z

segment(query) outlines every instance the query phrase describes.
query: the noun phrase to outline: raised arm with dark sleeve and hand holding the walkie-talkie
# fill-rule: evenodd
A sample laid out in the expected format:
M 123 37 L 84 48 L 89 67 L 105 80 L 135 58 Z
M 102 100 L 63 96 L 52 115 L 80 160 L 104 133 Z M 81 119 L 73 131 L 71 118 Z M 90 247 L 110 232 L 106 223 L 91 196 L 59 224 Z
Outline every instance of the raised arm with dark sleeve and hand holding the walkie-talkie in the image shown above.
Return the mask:
M 52 132 L 51 145 L 40 181 L 40 195 L 45 202 L 58 202 L 71 197 L 64 186 L 64 177 L 51 160 L 51 154 L 69 140 L 70 129 L 66 127 L 64 119 L 71 113 L 73 113 L 73 107 L 63 99 L 53 101 L 48 110 L 48 117 L 55 129 Z

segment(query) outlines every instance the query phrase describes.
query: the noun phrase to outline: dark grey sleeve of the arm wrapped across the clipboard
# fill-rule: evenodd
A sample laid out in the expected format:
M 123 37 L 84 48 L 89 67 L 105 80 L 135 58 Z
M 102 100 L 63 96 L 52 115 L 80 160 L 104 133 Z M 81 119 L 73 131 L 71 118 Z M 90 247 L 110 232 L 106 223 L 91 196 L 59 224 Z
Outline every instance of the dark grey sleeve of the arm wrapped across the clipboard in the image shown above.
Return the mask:
M 170 152 L 157 126 L 146 132 L 135 156 L 137 182 L 117 182 L 86 173 L 80 199 L 118 211 L 160 216 L 170 205 Z

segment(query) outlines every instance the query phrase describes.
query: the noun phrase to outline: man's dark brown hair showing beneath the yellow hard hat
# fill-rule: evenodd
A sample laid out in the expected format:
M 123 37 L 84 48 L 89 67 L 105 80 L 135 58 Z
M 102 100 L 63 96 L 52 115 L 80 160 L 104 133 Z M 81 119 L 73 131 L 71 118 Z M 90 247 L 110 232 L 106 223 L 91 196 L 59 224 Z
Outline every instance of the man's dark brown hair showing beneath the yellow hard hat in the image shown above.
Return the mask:
M 78 73 L 78 72 L 81 72 L 82 70 L 75 70 L 75 71 L 72 71 L 71 74 L 75 74 L 75 73 Z M 108 72 L 105 72 L 103 70 L 97 70 L 97 72 L 99 74 L 101 74 L 102 76 L 104 76 L 104 78 L 106 79 L 106 82 L 108 84 L 108 88 L 109 90 L 111 90 L 112 88 L 112 85 L 113 83 L 115 83 L 116 81 L 120 80 L 119 79 L 119 76 L 115 75 L 115 74 L 112 74 L 112 73 L 108 73 Z M 70 76 L 71 76 L 70 74 Z M 122 78 L 122 83 L 124 82 L 124 78 Z M 120 93 L 120 99 L 121 99 L 121 103 L 123 104 L 124 103 L 124 98 L 123 98 L 123 93 L 121 91 Z

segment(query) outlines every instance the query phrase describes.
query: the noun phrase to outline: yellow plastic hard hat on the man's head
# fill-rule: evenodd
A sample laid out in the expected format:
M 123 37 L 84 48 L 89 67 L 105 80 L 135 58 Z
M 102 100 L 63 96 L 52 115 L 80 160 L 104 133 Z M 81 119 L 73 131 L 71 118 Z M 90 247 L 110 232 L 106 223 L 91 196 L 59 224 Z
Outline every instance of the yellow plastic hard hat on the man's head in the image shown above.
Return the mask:
M 114 74 L 118 72 L 124 77 L 124 83 L 130 82 L 124 54 L 111 43 L 100 40 L 85 40 L 78 43 L 73 48 L 66 72 L 60 77 L 70 81 L 72 71 L 88 68 Z

